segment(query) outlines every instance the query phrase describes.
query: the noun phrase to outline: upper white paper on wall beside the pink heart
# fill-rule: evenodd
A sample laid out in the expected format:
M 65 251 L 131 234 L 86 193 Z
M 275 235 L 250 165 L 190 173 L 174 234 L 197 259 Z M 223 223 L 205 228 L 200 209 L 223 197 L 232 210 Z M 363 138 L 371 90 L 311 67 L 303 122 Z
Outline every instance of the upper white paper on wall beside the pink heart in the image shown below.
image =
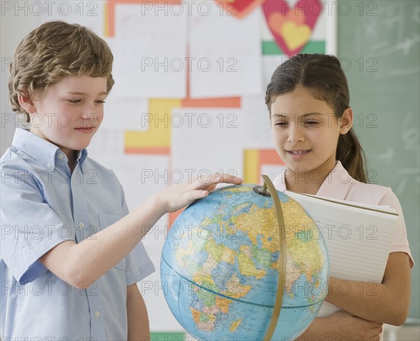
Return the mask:
M 238 20 L 216 1 L 204 2 L 189 17 L 190 97 L 260 94 L 260 10 Z

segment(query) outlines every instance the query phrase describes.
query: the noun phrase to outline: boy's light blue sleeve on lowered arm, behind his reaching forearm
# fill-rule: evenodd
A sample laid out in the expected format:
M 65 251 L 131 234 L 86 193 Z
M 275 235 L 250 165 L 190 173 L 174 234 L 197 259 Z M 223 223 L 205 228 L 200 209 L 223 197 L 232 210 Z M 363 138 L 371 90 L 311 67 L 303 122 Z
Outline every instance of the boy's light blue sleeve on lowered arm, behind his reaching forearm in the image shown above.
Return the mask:
M 121 187 L 123 191 L 123 188 Z M 123 212 L 125 215 L 128 214 L 127 203 L 125 201 L 125 195 L 123 191 Z M 132 249 L 130 254 L 125 257 L 125 281 L 127 286 L 134 283 L 140 282 L 145 277 L 155 272 L 155 267 L 151 259 L 149 258 L 146 249 L 142 242 Z

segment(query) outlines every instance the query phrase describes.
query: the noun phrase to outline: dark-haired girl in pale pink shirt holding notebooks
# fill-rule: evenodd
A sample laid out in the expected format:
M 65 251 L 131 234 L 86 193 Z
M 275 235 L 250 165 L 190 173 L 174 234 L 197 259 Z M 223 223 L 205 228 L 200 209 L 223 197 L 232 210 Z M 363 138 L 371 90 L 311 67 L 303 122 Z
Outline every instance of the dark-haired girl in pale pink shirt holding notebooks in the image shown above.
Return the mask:
M 368 283 L 361 291 L 356 281 L 349 281 L 351 290 L 341 295 L 335 286 L 340 280 L 330 277 L 326 300 L 341 310 L 316 318 L 299 340 L 381 340 L 382 324 L 401 325 L 407 318 L 414 262 L 404 217 L 390 188 L 367 184 L 363 150 L 351 128 L 349 101 L 339 60 L 328 55 L 288 59 L 276 68 L 267 86 L 265 103 L 276 151 L 287 166 L 274 180 L 276 189 L 389 205 L 400 215 L 384 280 L 375 295 L 360 295 L 367 292 Z

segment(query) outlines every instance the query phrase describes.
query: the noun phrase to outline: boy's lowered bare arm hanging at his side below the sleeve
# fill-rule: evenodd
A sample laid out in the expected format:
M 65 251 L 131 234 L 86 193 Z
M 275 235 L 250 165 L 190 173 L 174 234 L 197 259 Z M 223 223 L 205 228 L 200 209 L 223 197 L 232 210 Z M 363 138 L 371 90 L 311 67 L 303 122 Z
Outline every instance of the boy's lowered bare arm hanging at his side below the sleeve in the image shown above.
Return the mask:
M 127 286 L 127 320 L 128 341 L 149 340 L 151 332 L 146 305 L 137 284 Z

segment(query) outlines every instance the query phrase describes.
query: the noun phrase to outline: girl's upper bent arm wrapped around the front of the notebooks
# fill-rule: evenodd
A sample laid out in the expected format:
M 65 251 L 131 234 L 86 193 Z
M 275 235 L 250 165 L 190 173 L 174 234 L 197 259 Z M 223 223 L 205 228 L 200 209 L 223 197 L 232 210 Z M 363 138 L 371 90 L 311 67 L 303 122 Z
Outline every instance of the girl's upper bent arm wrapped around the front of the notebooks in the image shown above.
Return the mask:
M 405 252 L 388 256 L 381 284 L 330 277 L 325 300 L 362 319 L 400 326 L 407 319 L 411 294 L 409 257 Z M 344 288 L 345 291 L 344 292 Z

